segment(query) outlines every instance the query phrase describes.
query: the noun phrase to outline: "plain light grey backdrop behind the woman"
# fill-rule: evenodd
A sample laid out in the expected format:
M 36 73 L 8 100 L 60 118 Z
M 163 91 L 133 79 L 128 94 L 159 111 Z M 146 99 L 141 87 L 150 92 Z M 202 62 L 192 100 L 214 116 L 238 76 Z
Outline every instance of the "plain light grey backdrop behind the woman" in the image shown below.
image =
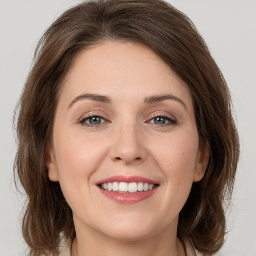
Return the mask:
M 24 198 L 12 165 L 12 118 L 43 31 L 81 0 L 0 0 L 0 255 L 22 255 Z M 230 87 L 241 158 L 221 255 L 256 255 L 256 0 L 169 0 L 187 14 L 209 45 Z

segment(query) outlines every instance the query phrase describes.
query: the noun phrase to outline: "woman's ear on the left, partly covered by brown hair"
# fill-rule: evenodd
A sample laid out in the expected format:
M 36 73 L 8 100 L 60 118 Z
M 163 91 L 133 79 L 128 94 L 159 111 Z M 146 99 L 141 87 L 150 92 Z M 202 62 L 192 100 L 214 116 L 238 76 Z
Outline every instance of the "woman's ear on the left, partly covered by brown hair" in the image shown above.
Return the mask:
M 54 158 L 54 151 L 50 143 L 47 143 L 45 148 L 45 164 L 48 169 L 49 179 L 51 181 L 57 182 L 58 181 L 58 172 Z

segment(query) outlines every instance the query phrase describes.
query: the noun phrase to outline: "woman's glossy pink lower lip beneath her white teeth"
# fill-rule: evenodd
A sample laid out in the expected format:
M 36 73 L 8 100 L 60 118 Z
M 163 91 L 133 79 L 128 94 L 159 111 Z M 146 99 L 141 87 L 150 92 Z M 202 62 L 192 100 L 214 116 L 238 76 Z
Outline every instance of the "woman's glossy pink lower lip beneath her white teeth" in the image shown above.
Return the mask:
M 158 187 L 159 186 L 156 186 L 150 191 L 141 191 L 136 193 L 118 193 L 114 191 L 104 190 L 101 188 L 99 189 L 103 195 L 105 195 L 106 197 L 108 197 L 109 199 L 115 202 L 123 203 L 123 204 L 131 204 L 131 203 L 137 203 L 137 202 L 148 199 L 156 192 Z

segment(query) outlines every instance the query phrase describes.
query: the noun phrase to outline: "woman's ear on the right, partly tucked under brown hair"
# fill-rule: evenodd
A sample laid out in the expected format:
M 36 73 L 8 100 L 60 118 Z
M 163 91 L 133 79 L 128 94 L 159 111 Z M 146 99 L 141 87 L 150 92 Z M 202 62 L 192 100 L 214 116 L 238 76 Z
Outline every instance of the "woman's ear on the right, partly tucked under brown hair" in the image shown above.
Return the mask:
M 210 147 L 208 143 L 201 142 L 198 148 L 197 156 L 196 156 L 193 182 L 198 182 L 203 178 L 208 165 L 209 156 L 210 156 Z

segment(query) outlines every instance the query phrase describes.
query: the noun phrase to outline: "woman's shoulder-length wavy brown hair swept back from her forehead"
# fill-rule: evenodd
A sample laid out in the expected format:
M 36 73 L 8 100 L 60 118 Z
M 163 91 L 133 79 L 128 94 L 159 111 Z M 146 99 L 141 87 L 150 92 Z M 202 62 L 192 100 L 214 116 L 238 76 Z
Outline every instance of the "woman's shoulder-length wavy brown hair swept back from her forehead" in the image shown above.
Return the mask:
M 27 193 L 23 236 L 30 255 L 58 254 L 61 237 L 75 237 L 72 211 L 45 166 L 61 84 L 79 51 L 103 40 L 150 47 L 185 82 L 194 103 L 200 141 L 210 147 L 203 179 L 193 183 L 179 215 L 177 235 L 203 255 L 224 242 L 239 156 L 226 82 L 189 18 L 162 0 L 92 0 L 64 12 L 45 32 L 18 109 L 14 168 Z

